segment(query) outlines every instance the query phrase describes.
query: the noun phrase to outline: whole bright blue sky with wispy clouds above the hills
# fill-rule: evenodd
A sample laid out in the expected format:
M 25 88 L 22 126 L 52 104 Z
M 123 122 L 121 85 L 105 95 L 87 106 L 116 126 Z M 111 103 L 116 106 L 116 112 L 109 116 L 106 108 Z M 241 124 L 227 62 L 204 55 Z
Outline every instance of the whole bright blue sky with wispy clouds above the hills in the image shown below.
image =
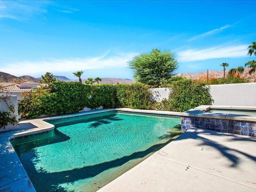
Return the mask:
M 176 54 L 180 72 L 256 57 L 256 1 L 0 1 L 0 71 L 40 77 L 133 78 L 128 61 Z

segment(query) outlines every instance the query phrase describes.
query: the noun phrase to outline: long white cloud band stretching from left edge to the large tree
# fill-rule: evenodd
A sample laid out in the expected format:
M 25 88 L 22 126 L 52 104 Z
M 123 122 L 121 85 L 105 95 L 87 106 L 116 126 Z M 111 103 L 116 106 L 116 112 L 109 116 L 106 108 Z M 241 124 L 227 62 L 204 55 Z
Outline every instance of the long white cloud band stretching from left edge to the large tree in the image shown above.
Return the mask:
M 16 76 L 25 74 L 45 74 L 46 72 L 70 72 L 86 69 L 126 67 L 127 62 L 138 53 L 118 53 L 108 56 L 108 52 L 98 57 L 63 58 L 40 61 L 20 61 L 0 66 L 0 71 Z

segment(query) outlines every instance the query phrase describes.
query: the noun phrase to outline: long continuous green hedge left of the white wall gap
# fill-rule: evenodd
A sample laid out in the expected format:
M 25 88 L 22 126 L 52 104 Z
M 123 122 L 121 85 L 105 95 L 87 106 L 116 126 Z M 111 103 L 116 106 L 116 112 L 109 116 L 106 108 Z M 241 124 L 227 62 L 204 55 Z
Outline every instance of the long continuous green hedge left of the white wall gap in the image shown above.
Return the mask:
M 85 107 L 150 109 L 149 86 L 82 84 L 79 82 L 53 82 L 35 92 L 25 92 L 18 110 L 22 118 L 35 118 L 42 114 L 72 114 Z

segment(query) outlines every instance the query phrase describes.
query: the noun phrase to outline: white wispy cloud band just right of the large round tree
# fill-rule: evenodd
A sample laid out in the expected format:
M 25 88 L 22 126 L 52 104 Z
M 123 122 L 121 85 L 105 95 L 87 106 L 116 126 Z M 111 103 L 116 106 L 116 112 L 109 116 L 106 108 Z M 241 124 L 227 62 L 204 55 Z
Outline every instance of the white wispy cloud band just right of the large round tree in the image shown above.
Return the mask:
M 207 49 L 190 49 L 178 52 L 179 62 L 208 60 L 214 58 L 236 58 L 247 56 L 248 45 L 216 46 Z

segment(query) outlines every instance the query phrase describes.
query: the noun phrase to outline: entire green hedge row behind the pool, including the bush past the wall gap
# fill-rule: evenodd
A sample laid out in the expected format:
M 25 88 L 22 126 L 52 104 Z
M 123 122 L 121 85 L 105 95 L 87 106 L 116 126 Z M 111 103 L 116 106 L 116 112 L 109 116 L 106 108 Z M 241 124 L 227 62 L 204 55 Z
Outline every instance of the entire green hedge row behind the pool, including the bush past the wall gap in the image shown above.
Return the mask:
M 212 103 L 209 86 L 203 82 L 182 79 L 170 85 L 168 100 L 151 102 L 148 85 L 134 84 L 82 84 L 57 81 L 35 92 L 26 92 L 18 105 L 22 118 L 35 118 L 42 114 L 72 114 L 85 107 L 157 109 L 183 112 Z

